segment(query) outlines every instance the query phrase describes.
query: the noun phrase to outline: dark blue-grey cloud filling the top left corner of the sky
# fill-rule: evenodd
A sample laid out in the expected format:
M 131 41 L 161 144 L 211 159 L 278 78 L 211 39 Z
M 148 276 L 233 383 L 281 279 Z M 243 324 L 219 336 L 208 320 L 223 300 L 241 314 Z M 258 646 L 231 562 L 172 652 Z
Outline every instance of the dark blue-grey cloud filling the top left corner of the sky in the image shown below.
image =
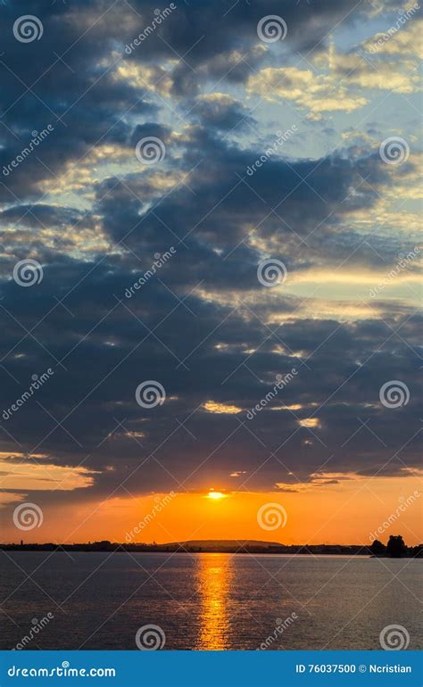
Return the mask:
M 110 8 L 109 8 L 110 10 Z M 21 43 L 13 22 L 24 14 L 43 23 L 43 36 Z M 0 186 L 0 198 L 11 202 L 39 195 L 38 182 L 54 179 L 69 161 L 92 146 L 128 144 L 132 127 L 124 120 L 156 111 L 143 93 L 114 79 L 113 34 L 102 4 L 21 3 L 2 8 L 0 167 L 8 166 L 29 147 L 31 138 L 53 128 L 37 150 L 25 156 Z

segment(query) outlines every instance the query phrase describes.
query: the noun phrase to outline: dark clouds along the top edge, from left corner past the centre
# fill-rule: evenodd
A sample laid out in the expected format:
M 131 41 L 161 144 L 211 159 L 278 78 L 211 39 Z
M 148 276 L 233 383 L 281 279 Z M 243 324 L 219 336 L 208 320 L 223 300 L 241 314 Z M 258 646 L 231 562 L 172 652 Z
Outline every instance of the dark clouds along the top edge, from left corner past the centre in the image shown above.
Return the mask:
M 0 18 L 0 167 L 28 146 L 33 132 L 50 125 L 54 133 L 39 149 L 41 163 L 37 155 L 29 156 L 8 178 L 9 192 L 0 186 L 0 198 L 11 202 L 16 194 L 21 200 L 32 199 L 39 181 L 51 179 L 91 146 L 129 143 L 129 117 L 144 119 L 157 110 L 157 103 L 129 80 L 115 79 L 115 70 L 125 61 L 156 67 L 158 60 L 173 60 L 189 51 L 170 78 L 174 91 L 191 96 L 197 92 L 198 79 L 216 81 L 227 75 L 243 81 L 251 74 L 262 56 L 262 51 L 252 48 L 260 43 L 256 27 L 261 17 L 282 14 L 289 26 L 286 46 L 305 50 L 319 46 L 328 26 L 348 15 L 353 6 L 353 0 L 326 0 L 312 11 L 275 0 L 253 5 L 216 0 L 182 4 L 128 55 L 125 45 L 154 18 L 153 2 L 68 5 L 37 0 L 20 3 L 19 12 L 15 5 L 6 4 Z M 22 43 L 13 36 L 13 22 L 25 14 L 42 21 L 40 40 Z M 248 63 L 234 57 L 238 49 L 242 54 L 245 50 Z M 188 66 L 190 61 L 194 67 Z

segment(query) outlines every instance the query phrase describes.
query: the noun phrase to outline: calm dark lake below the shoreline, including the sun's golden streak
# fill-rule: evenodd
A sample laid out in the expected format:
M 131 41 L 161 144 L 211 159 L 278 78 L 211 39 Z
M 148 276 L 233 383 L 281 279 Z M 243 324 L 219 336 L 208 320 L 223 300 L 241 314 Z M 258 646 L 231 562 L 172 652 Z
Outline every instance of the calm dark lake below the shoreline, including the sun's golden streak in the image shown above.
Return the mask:
M 170 650 L 377 650 L 387 625 L 406 628 L 409 649 L 423 648 L 421 559 L 0 556 L 1 649 L 26 636 L 27 649 L 137 650 L 144 625 L 158 626 L 153 634 Z

